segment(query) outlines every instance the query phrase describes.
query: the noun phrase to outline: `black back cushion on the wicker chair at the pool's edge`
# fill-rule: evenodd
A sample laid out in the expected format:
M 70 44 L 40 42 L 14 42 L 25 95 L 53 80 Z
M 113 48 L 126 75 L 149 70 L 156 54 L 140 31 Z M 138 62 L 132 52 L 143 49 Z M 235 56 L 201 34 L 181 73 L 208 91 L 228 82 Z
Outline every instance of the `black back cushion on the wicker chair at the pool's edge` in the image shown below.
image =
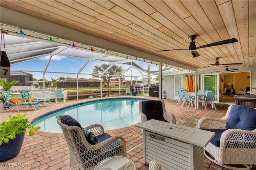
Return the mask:
M 148 100 L 142 102 L 142 112 L 146 115 L 147 119 L 164 119 L 162 102 Z

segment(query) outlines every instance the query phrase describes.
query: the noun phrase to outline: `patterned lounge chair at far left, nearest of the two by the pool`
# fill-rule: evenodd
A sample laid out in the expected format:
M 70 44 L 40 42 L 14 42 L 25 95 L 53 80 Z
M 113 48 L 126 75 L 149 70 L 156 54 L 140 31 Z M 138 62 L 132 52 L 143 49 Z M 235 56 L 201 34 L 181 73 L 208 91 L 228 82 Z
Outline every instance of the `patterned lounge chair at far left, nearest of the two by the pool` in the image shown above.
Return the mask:
M 36 107 L 42 107 L 41 104 L 37 101 L 30 101 L 30 102 L 26 102 L 21 100 L 20 103 L 17 103 L 15 101 L 11 101 L 11 99 L 14 97 L 14 95 L 12 94 L 12 92 L 10 91 L 0 91 L 0 95 L 3 97 L 5 103 L 3 104 L 3 108 L 8 106 L 10 108 L 12 107 L 17 107 L 18 112 L 20 111 L 18 107 L 24 107 L 26 106 L 28 109 L 28 106 L 32 106 L 34 107 L 34 109 L 36 110 Z

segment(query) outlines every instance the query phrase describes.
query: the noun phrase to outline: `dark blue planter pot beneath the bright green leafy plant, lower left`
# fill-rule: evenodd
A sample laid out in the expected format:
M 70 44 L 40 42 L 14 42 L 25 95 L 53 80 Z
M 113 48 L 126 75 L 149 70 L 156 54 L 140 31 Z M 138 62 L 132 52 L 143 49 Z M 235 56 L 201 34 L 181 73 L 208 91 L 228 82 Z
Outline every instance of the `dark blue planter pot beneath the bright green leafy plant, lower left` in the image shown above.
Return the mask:
M 8 143 L 2 143 L 0 145 L 0 157 L 1 162 L 5 160 L 9 160 L 14 158 L 20 153 L 20 149 L 22 147 L 23 141 L 24 141 L 25 133 L 18 134 L 16 138 L 9 139 Z

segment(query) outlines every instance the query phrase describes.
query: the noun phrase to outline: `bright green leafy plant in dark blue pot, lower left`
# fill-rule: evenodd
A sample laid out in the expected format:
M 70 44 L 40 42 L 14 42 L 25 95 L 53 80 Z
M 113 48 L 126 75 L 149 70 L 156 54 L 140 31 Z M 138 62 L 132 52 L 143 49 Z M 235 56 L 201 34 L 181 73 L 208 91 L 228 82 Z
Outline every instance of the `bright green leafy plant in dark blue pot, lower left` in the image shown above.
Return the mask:
M 35 127 L 26 118 L 26 113 L 17 116 L 8 116 L 9 121 L 0 123 L 0 157 L 1 162 L 14 158 L 20 153 L 23 144 L 25 132 L 29 129 L 28 136 L 34 136 L 35 131 L 40 127 Z

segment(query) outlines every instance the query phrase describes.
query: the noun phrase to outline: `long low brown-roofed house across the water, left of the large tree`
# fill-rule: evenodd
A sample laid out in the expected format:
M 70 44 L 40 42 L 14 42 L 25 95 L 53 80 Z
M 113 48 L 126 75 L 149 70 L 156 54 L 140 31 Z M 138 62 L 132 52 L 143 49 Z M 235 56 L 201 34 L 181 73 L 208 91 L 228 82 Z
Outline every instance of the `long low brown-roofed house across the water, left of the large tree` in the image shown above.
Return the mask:
M 102 81 L 102 84 L 105 82 Z M 76 79 L 65 79 L 58 81 L 57 87 L 76 87 Z M 78 87 L 100 87 L 98 79 L 78 79 Z

